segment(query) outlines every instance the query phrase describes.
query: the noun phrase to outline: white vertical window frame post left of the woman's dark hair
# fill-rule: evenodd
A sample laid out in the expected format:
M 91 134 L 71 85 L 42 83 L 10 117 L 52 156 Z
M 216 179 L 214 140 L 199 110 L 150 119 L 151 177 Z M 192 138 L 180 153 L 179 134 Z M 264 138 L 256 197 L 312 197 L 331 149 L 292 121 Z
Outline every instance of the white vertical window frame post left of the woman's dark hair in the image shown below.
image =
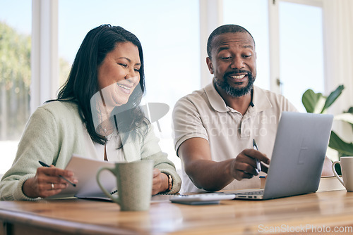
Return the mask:
M 30 113 L 59 87 L 58 0 L 32 0 Z

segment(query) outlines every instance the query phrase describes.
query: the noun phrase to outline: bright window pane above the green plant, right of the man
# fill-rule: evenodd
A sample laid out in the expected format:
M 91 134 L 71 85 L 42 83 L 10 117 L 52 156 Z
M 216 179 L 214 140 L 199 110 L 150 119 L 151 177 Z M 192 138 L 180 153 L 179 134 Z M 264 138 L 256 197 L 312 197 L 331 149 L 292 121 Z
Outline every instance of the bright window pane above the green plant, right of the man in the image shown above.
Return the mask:
M 304 91 L 325 91 L 322 8 L 280 1 L 279 17 L 282 94 L 306 112 L 301 103 Z

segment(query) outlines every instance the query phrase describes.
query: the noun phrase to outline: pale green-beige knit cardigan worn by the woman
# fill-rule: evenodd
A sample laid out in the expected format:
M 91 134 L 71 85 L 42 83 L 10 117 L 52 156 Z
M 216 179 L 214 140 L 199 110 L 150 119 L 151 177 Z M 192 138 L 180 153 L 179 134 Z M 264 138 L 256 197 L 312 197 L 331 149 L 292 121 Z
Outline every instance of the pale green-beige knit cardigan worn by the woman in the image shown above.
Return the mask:
M 37 108 L 27 122 L 12 167 L 1 179 L 0 199 L 39 199 L 29 198 L 22 191 L 25 180 L 34 177 L 37 167 L 40 167 L 38 161 L 64 169 L 73 153 L 91 158 L 92 153 L 88 149 L 92 148 L 85 146 L 89 142 L 84 139 L 87 136 L 76 104 L 53 101 Z M 136 135 L 136 139 L 129 137 L 123 151 L 128 162 L 142 158 L 154 160 L 156 168 L 172 176 L 170 193 L 179 191 L 181 179 L 167 154 L 160 150 L 152 128 L 144 138 L 140 135 Z

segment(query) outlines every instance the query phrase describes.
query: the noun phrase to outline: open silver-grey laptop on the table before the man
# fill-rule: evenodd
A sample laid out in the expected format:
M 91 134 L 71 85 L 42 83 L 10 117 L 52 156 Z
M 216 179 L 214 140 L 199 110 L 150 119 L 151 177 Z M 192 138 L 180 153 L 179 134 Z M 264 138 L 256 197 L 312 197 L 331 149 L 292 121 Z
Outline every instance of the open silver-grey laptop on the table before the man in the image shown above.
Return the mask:
M 265 188 L 225 193 L 235 199 L 264 200 L 316 192 L 332 122 L 333 115 L 283 112 Z

